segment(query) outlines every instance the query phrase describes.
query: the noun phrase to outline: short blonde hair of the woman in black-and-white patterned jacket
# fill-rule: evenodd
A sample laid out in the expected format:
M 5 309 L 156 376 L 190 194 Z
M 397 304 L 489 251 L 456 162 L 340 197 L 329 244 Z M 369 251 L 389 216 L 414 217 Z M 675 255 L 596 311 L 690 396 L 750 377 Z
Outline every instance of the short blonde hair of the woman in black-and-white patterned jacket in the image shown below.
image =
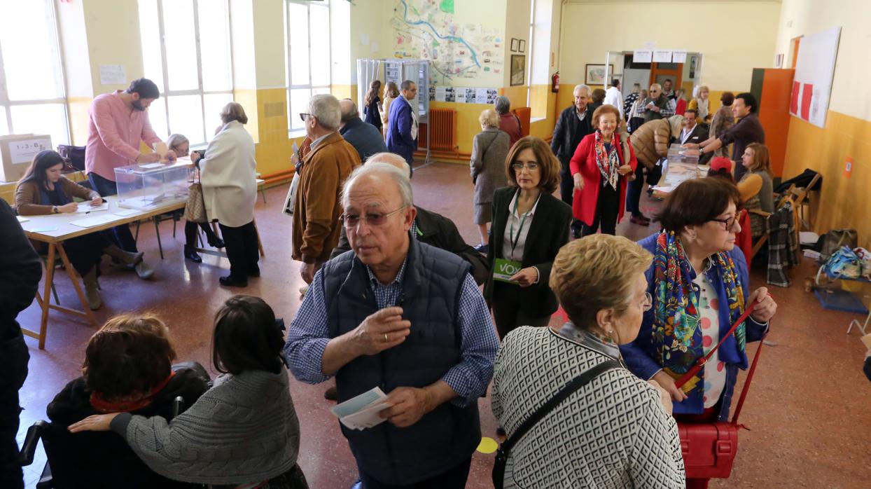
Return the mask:
M 592 234 L 560 248 L 550 268 L 550 289 L 572 323 L 592 329 L 598 311 L 625 312 L 635 274 L 652 261 L 653 255 L 623 236 Z

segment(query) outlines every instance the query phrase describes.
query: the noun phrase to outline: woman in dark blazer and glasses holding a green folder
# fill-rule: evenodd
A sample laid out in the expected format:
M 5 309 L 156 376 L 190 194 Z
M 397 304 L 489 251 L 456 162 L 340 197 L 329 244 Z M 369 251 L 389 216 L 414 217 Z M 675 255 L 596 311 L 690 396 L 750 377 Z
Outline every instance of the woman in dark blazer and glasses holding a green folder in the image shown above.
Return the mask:
M 518 326 L 546 326 L 557 310 L 548 285 L 559 248 L 569 241 L 571 207 L 552 194 L 559 161 L 542 139 L 519 139 L 505 160 L 509 187 L 493 194 L 484 296 L 503 338 Z

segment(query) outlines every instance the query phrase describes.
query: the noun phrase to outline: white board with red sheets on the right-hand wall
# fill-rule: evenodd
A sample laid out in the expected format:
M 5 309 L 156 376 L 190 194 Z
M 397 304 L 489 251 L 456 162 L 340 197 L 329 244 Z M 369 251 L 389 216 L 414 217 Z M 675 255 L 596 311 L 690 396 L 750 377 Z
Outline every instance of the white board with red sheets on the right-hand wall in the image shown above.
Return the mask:
M 789 112 L 814 126 L 826 127 L 840 38 L 841 27 L 801 38 Z

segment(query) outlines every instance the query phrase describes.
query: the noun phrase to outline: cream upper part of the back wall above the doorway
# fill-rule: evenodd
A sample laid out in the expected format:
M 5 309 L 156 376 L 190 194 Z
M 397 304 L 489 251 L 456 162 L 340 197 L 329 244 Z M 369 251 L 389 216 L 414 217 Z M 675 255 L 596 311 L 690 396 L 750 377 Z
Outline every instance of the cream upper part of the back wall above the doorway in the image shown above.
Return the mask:
M 605 51 L 653 41 L 704 53 L 700 83 L 712 90 L 748 90 L 753 68 L 773 66 L 780 2 L 566 3 L 564 17 L 559 69 L 566 83 L 583 83 L 584 65 L 603 64 Z

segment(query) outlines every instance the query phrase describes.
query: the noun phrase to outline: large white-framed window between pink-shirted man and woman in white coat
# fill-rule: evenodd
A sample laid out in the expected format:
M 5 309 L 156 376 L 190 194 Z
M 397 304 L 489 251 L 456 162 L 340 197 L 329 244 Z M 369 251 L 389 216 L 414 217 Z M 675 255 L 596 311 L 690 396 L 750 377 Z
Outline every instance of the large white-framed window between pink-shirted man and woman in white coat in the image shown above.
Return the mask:
M 154 132 L 212 139 L 233 101 L 227 0 L 139 0 L 139 32 L 145 78 L 160 89 L 148 109 Z

